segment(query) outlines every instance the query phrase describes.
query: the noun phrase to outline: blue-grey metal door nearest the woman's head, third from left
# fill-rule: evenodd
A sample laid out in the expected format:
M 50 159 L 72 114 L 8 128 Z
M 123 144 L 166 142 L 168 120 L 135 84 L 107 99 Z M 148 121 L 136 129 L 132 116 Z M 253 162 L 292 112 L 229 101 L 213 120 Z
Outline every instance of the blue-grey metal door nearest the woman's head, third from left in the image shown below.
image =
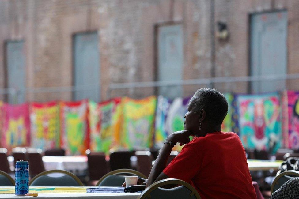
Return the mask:
M 182 80 L 183 77 L 183 32 L 182 25 L 159 26 L 158 34 L 158 81 Z M 182 86 L 165 86 L 158 94 L 168 98 L 181 97 Z

